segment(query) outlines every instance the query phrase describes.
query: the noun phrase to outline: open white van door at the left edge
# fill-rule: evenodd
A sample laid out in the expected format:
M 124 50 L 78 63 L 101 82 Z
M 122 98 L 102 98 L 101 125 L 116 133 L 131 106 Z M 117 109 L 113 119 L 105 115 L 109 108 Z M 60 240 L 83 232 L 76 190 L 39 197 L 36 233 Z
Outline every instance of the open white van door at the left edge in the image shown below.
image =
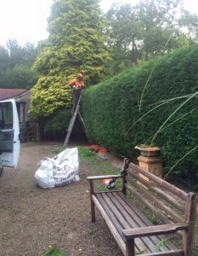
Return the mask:
M 0 101 L 0 176 L 3 166 L 16 167 L 20 156 L 20 125 L 15 101 Z

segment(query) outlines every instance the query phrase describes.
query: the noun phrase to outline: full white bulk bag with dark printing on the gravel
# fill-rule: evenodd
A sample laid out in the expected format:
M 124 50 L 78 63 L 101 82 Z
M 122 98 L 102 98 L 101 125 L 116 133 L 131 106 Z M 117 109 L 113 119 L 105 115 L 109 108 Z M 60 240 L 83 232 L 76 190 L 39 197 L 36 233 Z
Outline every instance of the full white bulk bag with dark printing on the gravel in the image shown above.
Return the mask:
M 37 184 L 42 188 L 54 188 L 80 180 L 77 148 L 67 148 L 54 158 L 41 160 L 35 173 Z

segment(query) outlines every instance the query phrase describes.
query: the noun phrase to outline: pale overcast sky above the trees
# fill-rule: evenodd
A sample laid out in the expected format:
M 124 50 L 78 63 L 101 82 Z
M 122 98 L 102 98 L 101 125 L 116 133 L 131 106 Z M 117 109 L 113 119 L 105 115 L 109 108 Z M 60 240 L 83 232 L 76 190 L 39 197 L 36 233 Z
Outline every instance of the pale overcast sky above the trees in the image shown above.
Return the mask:
M 101 8 L 107 11 L 115 0 L 101 0 Z M 138 3 L 139 0 L 119 0 L 120 3 Z M 48 38 L 47 17 L 53 0 L 0 0 L 0 44 L 8 38 L 23 45 L 29 41 Z M 184 0 L 184 8 L 198 15 L 198 1 Z

